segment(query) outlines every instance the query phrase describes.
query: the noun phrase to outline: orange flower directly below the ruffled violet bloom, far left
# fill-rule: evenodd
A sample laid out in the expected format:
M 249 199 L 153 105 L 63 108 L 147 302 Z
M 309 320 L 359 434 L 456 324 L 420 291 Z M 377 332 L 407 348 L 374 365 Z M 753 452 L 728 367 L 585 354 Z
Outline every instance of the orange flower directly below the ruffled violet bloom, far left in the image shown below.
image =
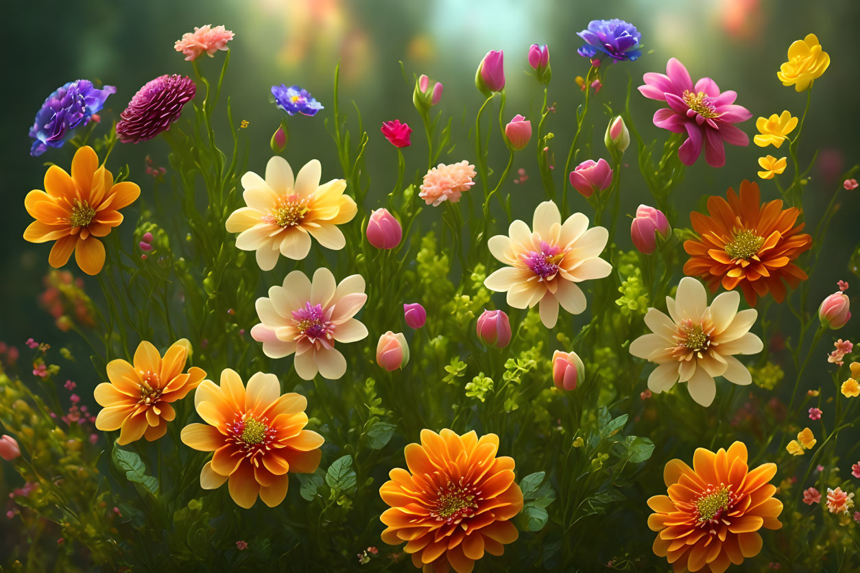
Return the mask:
M 54 268 L 75 260 L 88 275 L 96 275 L 105 264 L 103 237 L 122 222 L 120 209 L 134 203 L 140 187 L 131 181 L 114 185 L 112 175 L 99 165 L 93 148 L 84 146 L 71 160 L 71 175 L 52 165 L 45 174 L 45 191 L 31 191 L 24 207 L 34 217 L 24 239 L 31 243 L 56 241 L 48 255 Z

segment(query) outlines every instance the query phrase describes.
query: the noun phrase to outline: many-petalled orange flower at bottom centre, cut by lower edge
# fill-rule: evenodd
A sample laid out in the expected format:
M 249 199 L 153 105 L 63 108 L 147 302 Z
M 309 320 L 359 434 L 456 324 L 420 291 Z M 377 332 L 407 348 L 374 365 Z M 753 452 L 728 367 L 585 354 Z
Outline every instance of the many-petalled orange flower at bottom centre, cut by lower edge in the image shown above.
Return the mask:
M 513 459 L 495 457 L 499 436 L 479 440 L 474 431 L 458 436 L 421 430 L 421 444 L 404 453 L 409 471 L 397 467 L 379 495 L 391 507 L 380 517 L 382 539 L 408 541 L 415 567 L 468 573 L 484 551 L 501 555 L 517 539 L 509 521 L 523 509 L 523 493 L 513 481 Z

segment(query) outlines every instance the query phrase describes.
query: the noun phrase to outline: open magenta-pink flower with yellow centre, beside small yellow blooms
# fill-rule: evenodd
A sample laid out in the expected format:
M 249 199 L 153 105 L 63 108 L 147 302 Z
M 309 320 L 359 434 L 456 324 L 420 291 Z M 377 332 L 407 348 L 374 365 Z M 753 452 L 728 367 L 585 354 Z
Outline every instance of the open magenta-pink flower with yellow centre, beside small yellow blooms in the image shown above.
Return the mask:
M 688 138 L 678 149 L 685 165 L 695 163 L 704 146 L 708 165 L 722 168 L 726 164 L 723 143 L 749 145 L 746 133 L 732 125 L 753 117 L 746 107 L 734 105 L 736 92 L 721 92 L 710 77 L 703 77 L 693 86 L 684 64 L 675 58 L 666 64 L 666 75 L 649 72 L 642 79 L 642 95 L 669 105 L 654 113 L 654 125 L 674 133 L 686 131 Z

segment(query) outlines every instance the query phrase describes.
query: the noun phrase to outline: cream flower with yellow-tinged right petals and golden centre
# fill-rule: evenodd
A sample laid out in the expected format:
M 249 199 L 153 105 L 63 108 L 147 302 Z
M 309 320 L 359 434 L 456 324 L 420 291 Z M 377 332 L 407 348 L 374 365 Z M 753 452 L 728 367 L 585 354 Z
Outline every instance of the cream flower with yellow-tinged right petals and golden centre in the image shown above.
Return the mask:
M 290 164 L 275 155 L 266 165 L 265 180 L 251 171 L 242 176 L 248 206 L 233 211 L 227 231 L 239 233 L 238 248 L 256 251 L 263 271 L 274 268 L 279 254 L 304 259 L 310 252 L 310 237 L 335 251 L 346 246 L 337 225 L 352 221 L 358 209 L 353 198 L 344 194 L 346 181 L 320 185 L 321 175 L 322 166 L 313 159 L 293 178 Z

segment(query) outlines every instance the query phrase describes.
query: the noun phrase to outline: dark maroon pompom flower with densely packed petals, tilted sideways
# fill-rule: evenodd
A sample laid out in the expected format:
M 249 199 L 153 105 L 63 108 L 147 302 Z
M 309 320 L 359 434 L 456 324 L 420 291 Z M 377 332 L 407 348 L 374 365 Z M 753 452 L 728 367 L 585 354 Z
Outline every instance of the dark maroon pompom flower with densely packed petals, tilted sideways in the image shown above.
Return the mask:
M 156 137 L 179 119 L 182 107 L 194 99 L 197 86 L 188 76 L 159 76 L 134 94 L 120 113 L 116 134 L 122 143 L 138 143 Z

